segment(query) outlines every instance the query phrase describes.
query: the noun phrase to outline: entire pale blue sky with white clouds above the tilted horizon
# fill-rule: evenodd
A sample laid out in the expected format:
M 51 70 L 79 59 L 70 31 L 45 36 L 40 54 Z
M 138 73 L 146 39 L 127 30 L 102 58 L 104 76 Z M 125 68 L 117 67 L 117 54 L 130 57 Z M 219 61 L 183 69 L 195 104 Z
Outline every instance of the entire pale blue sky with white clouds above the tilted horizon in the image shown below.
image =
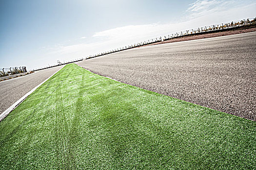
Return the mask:
M 254 17 L 255 0 L 0 0 L 0 68 L 40 68 Z

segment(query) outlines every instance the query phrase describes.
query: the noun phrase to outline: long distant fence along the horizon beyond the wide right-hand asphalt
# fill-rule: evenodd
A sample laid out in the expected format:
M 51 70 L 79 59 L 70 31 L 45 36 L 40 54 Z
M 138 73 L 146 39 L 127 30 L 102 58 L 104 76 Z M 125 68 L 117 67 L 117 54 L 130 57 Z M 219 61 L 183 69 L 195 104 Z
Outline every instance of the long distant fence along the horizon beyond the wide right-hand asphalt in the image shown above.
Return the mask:
M 199 28 L 195 28 L 195 29 L 180 31 L 180 32 L 176 32 L 173 34 L 163 36 L 163 37 L 160 36 L 160 37 L 149 39 L 146 41 L 141 41 L 139 43 L 121 47 L 118 49 L 104 51 L 104 52 L 100 52 L 100 53 L 94 54 L 94 55 L 89 55 L 89 56 L 86 56 L 85 59 L 90 59 L 90 58 L 94 58 L 94 57 L 98 57 L 98 56 L 102 56 L 102 55 L 106 55 L 106 54 L 110 54 L 110 53 L 114 53 L 114 52 L 118 52 L 118 51 L 123 51 L 123 50 L 128 50 L 128 49 L 132 49 L 132 48 L 136 48 L 136 47 L 140 47 L 140 46 L 144 46 L 144 45 L 149 45 L 149 44 L 153 44 L 156 42 L 166 41 L 166 40 L 170 40 L 173 38 L 178 38 L 178 37 L 183 37 L 183 36 L 188 36 L 188 35 L 221 32 L 222 30 L 227 31 L 227 30 L 232 30 L 234 28 L 246 27 L 246 26 L 251 26 L 251 25 L 252 26 L 256 25 L 256 17 L 243 19 L 240 21 L 232 21 L 230 23 L 221 23 L 221 24 L 215 24 L 215 25 L 211 25 L 211 26 L 204 26 L 204 27 L 199 27 Z

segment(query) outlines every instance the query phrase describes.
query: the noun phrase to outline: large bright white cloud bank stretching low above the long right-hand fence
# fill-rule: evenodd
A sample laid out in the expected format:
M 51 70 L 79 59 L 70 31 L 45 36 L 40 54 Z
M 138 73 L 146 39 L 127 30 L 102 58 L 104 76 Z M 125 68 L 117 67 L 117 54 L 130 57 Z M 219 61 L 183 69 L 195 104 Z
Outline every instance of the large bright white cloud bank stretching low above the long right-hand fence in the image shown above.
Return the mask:
M 255 9 L 256 2 L 252 0 L 197 0 L 189 5 L 183 22 L 128 25 L 104 30 L 91 37 L 96 43 L 59 45 L 51 49 L 49 54 L 79 58 L 177 31 L 255 17 Z

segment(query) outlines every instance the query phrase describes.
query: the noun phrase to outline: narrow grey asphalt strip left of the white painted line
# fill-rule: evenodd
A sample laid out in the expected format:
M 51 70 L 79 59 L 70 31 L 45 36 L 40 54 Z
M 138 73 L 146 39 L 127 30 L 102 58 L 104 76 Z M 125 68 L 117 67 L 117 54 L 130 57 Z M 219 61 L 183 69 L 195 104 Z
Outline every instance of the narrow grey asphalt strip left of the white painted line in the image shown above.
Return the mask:
M 47 68 L 0 82 L 0 114 L 62 67 Z

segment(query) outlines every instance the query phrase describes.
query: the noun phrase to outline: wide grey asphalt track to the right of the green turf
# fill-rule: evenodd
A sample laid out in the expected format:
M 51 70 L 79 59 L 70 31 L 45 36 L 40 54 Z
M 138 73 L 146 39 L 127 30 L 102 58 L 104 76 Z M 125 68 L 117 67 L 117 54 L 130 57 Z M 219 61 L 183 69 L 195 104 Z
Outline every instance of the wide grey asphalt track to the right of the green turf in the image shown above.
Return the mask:
M 142 47 L 76 64 L 129 85 L 256 120 L 256 32 Z

